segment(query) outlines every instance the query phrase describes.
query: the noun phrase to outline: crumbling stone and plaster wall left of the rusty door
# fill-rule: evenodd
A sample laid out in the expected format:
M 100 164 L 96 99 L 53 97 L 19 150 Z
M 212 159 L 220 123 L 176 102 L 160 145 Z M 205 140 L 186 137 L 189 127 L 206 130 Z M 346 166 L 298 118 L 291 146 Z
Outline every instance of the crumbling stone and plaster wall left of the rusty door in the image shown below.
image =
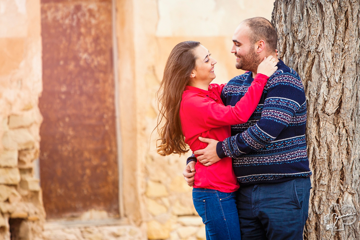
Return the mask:
M 45 219 L 34 172 L 42 121 L 40 0 L 0 3 L 0 239 L 11 231 L 12 239 L 32 240 Z

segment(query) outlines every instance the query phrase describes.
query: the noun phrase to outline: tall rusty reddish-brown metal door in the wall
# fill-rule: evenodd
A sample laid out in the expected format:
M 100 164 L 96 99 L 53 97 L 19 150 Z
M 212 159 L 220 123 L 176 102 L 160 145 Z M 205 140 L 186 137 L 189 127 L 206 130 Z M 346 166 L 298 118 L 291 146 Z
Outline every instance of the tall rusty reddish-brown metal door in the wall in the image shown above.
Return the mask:
M 41 0 L 40 178 L 48 218 L 119 214 L 111 0 Z

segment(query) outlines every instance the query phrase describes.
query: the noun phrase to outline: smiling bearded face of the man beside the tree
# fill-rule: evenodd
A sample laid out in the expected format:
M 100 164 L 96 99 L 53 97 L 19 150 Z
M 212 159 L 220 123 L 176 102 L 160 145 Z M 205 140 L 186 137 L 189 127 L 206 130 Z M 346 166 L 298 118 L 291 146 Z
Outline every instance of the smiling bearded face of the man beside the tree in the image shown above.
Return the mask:
M 256 72 L 261 59 L 256 53 L 256 45 L 249 40 L 250 31 L 246 24 L 240 24 L 237 27 L 233 36 L 231 53 L 234 53 L 237 57 L 235 64 L 237 69 Z

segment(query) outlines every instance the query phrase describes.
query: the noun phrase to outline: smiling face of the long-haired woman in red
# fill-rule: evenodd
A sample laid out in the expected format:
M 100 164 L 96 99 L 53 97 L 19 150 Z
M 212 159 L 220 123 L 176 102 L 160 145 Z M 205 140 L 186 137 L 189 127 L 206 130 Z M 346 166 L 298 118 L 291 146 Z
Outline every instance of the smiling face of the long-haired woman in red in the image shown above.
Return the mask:
M 194 50 L 195 56 L 197 57 L 195 62 L 195 69 L 193 73 L 195 77 L 193 80 L 195 81 L 204 81 L 204 80 L 213 80 L 216 75 L 214 73 L 214 65 L 216 60 L 213 59 L 203 45 L 199 45 Z M 210 81 L 210 82 L 211 82 Z

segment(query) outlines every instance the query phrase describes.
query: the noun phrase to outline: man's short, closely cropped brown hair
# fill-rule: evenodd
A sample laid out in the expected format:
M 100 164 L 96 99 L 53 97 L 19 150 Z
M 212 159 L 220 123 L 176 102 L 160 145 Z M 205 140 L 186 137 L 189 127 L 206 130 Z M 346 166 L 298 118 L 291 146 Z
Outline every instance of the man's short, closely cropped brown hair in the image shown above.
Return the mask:
M 249 39 L 251 43 L 264 40 L 267 44 L 268 51 L 275 52 L 278 42 L 278 34 L 275 27 L 269 20 L 262 17 L 248 18 L 243 21 L 250 28 Z

